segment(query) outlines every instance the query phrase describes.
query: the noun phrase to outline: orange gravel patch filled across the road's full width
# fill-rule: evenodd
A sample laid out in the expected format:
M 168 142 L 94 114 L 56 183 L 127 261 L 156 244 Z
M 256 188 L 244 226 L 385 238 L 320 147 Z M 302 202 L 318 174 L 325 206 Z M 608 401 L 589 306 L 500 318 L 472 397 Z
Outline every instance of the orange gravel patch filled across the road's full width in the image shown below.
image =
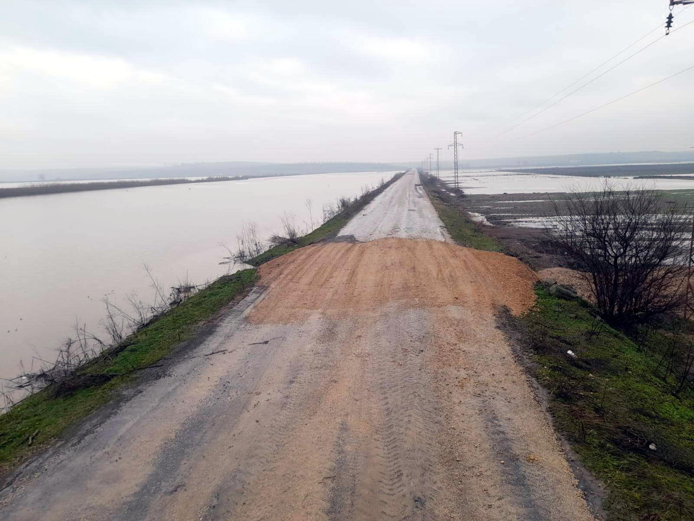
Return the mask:
M 260 267 L 267 297 L 253 323 L 289 323 L 316 312 L 341 318 L 396 305 L 402 308 L 534 304 L 537 276 L 516 258 L 434 240 L 386 238 L 335 242 L 293 251 Z

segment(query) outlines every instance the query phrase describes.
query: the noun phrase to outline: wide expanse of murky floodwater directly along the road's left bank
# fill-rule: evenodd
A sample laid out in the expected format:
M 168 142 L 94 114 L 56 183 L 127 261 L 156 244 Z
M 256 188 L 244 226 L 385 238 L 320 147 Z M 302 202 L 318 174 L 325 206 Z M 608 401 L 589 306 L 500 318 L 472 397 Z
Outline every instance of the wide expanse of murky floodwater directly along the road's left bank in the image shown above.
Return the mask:
M 244 222 L 269 237 L 280 215 L 301 229 L 322 222 L 323 204 L 353 197 L 394 172 L 269 177 L 0 199 L 0 378 L 20 361 L 55 359 L 78 322 L 105 337 L 102 299 L 124 305 L 131 292 L 153 301 L 142 267 L 164 288 L 234 271 L 220 264 Z M 312 212 L 306 199 L 312 199 Z

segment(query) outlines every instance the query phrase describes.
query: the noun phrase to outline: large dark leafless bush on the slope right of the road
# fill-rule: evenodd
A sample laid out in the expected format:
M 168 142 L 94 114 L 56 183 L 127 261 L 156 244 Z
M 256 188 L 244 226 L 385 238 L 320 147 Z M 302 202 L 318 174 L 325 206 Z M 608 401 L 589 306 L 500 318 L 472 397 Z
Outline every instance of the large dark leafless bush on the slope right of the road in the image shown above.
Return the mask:
M 686 279 L 684 207 L 646 188 L 568 192 L 553 201 L 545 227 L 552 245 L 573 259 L 609 322 L 638 323 L 682 304 Z

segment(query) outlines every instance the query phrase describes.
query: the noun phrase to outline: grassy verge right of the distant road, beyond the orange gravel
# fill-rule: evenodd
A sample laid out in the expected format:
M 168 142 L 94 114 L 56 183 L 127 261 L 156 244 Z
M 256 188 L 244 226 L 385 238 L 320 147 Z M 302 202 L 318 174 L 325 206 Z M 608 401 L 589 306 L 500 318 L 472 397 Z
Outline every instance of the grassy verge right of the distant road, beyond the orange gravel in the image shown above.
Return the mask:
M 422 176 L 422 184 L 434 208 L 436 208 L 439 218 L 446 225 L 448 233 L 457 244 L 486 251 L 504 250 L 504 245 L 498 240 L 485 235 L 475 222 L 468 219 L 464 212 L 446 202 L 446 199 L 453 196 L 441 192 L 434 178 Z

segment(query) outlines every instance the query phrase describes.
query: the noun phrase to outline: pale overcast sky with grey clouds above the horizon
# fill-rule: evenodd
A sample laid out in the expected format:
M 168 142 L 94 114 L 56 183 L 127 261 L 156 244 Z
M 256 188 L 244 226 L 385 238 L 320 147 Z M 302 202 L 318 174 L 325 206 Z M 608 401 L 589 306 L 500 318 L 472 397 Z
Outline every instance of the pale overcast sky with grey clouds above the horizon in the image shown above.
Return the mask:
M 518 138 L 694 65 L 694 24 L 492 139 L 667 4 L 2 0 L 0 168 L 420 160 L 453 130 L 466 158 L 684 150 L 694 70 Z

